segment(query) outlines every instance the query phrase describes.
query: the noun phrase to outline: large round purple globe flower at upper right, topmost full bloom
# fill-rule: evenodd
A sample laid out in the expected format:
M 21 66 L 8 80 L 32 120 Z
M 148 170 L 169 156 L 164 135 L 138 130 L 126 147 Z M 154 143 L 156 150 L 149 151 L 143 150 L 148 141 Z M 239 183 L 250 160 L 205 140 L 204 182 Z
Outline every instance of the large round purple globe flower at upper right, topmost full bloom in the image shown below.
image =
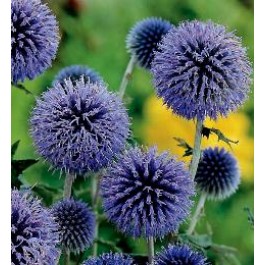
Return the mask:
M 248 97 L 251 67 L 240 38 L 213 22 L 184 22 L 163 38 L 152 73 L 156 92 L 187 119 L 216 119 Z

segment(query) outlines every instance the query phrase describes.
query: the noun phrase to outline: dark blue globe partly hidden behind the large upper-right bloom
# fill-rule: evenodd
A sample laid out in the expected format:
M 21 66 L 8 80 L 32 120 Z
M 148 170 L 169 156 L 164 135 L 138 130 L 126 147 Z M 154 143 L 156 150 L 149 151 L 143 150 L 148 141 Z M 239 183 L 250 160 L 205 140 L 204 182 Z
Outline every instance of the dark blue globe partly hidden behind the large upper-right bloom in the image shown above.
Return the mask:
M 139 21 L 130 30 L 126 46 L 141 67 L 150 69 L 154 51 L 158 49 L 159 42 L 171 27 L 168 21 L 151 17 Z

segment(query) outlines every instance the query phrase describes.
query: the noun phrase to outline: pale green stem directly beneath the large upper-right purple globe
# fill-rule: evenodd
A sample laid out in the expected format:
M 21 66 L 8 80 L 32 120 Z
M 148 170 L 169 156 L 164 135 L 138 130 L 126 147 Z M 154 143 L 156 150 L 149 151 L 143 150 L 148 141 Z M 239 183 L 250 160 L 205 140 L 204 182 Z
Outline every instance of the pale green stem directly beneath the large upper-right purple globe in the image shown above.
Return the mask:
M 192 159 L 190 164 L 190 175 L 192 179 L 194 179 L 196 176 L 198 164 L 201 157 L 202 128 L 203 128 L 203 121 L 197 120 L 195 141 L 194 141 Z

